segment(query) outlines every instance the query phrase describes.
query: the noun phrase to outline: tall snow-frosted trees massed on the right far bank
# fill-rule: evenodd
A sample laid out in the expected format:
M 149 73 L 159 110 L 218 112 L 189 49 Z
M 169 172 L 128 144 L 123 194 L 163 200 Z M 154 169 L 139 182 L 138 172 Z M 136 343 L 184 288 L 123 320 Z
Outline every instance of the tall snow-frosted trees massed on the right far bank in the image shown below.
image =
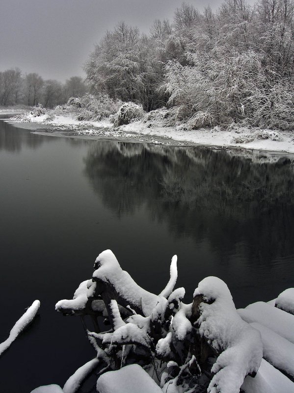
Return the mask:
M 294 2 L 225 0 L 215 12 L 183 3 L 148 34 L 121 22 L 84 70 L 93 94 L 147 111 L 169 105 L 194 128 L 242 121 L 294 128 Z

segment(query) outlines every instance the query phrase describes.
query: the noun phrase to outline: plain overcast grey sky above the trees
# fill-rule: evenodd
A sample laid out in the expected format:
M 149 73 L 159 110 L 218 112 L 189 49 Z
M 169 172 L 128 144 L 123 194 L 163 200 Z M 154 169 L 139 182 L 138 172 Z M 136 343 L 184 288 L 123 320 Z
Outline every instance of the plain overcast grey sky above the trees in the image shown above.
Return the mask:
M 221 0 L 190 0 L 213 9 Z M 84 76 L 82 64 L 107 29 L 124 20 L 148 31 L 172 19 L 182 0 L 1 0 L 0 71 L 19 67 L 45 79 Z

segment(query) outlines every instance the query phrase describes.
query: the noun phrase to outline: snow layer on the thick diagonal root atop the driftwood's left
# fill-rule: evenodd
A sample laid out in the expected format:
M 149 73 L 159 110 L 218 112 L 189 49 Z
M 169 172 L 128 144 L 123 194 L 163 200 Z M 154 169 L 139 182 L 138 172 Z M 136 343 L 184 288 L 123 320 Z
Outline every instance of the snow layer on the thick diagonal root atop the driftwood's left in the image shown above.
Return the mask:
M 139 287 L 129 273 L 122 270 L 111 250 L 103 251 L 97 257 L 95 266 L 99 268 L 93 273 L 94 280 L 110 283 L 130 305 L 135 305 L 138 309 L 142 307 L 145 316 L 151 314 L 159 302 L 159 296 Z

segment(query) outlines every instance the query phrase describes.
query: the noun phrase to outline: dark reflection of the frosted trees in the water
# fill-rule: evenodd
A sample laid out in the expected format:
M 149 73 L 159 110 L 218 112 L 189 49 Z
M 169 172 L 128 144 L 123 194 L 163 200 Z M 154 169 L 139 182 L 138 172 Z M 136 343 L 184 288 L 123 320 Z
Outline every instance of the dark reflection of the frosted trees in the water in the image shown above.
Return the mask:
M 177 237 L 208 239 L 220 259 L 269 265 L 294 254 L 294 166 L 289 158 L 98 141 L 85 174 L 118 217 L 146 206 Z

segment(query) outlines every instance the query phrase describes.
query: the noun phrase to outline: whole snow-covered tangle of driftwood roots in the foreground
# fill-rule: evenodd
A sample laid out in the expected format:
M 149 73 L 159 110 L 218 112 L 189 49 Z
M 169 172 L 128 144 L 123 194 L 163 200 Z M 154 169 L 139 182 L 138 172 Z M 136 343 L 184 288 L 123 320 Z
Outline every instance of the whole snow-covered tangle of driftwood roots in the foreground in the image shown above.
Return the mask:
M 106 250 L 95 261 L 92 279 L 80 284 L 72 300 L 56 304 L 56 311 L 83 320 L 97 352 L 97 362 L 89 364 L 98 365 L 98 376 L 107 371 L 98 379 L 100 393 L 109 391 L 108 374 L 108 380 L 121 375 L 122 384 L 133 378 L 130 365 L 142 367 L 142 378 L 152 378 L 168 393 L 239 393 L 244 378 L 255 376 L 263 356 L 260 332 L 241 319 L 226 284 L 208 277 L 195 289 L 193 302 L 185 304 L 185 289 L 174 289 L 176 279 L 174 256 L 169 282 L 159 295 L 150 293 Z M 89 316 L 95 331 L 86 326 Z M 107 332 L 99 330 L 101 316 L 111 325 Z M 80 386 L 91 367 L 80 367 L 82 372 L 66 383 L 67 393 L 76 391 L 69 387 Z M 115 370 L 121 372 L 111 375 Z M 126 381 L 126 387 L 133 382 Z

